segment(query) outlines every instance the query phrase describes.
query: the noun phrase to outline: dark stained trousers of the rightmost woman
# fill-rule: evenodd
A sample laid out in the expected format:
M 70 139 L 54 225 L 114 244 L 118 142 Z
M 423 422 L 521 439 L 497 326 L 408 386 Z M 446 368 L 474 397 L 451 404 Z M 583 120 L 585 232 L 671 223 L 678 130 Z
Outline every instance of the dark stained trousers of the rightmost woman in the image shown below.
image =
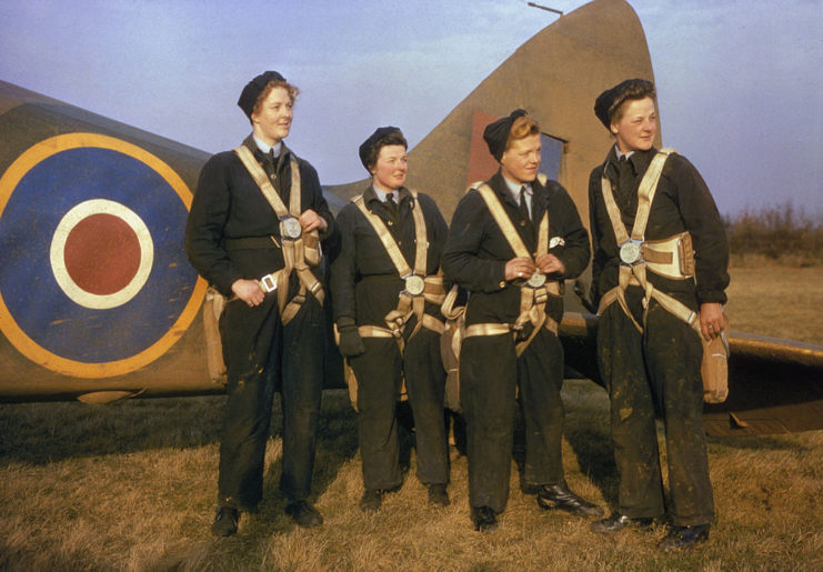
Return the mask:
M 642 323 L 640 289 L 630 288 L 628 294 L 630 308 Z M 699 334 L 654 301 L 641 334 L 614 302 L 598 324 L 598 355 L 611 399 L 620 512 L 630 518 L 665 512 L 656 408 L 665 422 L 672 523 L 711 522 L 714 510 L 703 430 L 703 347 Z

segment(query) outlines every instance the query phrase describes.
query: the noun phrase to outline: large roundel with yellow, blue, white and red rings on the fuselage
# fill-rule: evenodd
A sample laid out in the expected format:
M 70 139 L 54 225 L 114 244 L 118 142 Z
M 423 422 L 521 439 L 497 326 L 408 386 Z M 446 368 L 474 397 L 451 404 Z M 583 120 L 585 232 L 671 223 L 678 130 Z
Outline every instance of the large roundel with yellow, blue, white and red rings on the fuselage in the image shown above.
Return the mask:
M 191 191 L 165 162 L 123 140 L 69 133 L 29 148 L 0 178 L 0 330 L 66 375 L 121 375 L 157 360 L 205 294 L 183 248 L 190 205 Z M 106 237 L 69 239 L 96 218 L 130 237 L 122 257 L 114 245 L 106 263 L 96 258 L 94 244 L 118 244 Z M 110 262 L 129 258 L 126 278 L 110 280 Z M 78 285 L 67 261 L 91 287 Z M 97 279 L 113 280 L 116 291 L 88 292 Z

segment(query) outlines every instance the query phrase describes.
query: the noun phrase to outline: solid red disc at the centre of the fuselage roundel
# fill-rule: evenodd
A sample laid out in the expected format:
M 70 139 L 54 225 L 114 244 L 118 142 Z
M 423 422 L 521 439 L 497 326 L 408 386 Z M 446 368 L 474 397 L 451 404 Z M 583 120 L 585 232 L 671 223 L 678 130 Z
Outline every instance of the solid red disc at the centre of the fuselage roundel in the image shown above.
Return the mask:
M 140 268 L 140 240 L 112 214 L 91 214 L 66 239 L 66 270 L 81 289 L 108 295 L 126 288 Z

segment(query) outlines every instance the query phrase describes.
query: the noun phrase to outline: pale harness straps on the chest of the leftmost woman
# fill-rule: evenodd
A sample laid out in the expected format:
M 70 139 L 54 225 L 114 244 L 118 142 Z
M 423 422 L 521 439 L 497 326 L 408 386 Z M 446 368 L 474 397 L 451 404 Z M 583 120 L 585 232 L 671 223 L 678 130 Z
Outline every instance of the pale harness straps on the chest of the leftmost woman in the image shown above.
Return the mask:
M 275 273 L 278 289 L 278 307 L 280 308 L 280 319 L 283 325 L 288 324 L 300 311 L 300 307 L 305 302 L 308 293 L 311 293 L 320 304 L 323 303 L 323 287 L 309 268 L 309 264 L 317 267 L 320 263 L 320 239 L 317 230 L 305 232 L 300 229 L 300 234 L 290 238 L 287 231 L 289 225 L 300 225 L 297 219 L 301 214 L 300 205 L 300 165 L 292 155 L 290 158 L 291 167 L 291 191 L 289 198 L 289 209 L 285 208 L 280 194 L 274 190 L 269 177 L 263 168 L 254 159 L 254 154 L 245 145 L 234 149 L 234 153 L 251 174 L 265 200 L 271 205 L 274 213 L 280 219 L 280 238 L 282 240 L 283 262 L 282 272 Z M 295 272 L 300 281 L 300 290 L 287 301 L 289 294 L 289 277 Z M 273 274 L 274 275 L 274 274 Z M 288 303 L 287 303 L 288 302 Z

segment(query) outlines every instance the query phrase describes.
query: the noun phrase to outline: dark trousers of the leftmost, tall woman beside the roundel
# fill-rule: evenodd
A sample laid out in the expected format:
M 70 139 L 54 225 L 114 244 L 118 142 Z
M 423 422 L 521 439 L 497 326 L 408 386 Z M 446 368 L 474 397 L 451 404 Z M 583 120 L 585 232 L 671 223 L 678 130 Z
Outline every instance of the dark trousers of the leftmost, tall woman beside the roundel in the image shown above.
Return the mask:
M 308 297 L 283 327 L 277 294 L 249 308 L 230 302 L 221 317 L 228 400 L 220 442 L 218 502 L 252 509 L 262 499 L 263 458 L 274 391 L 283 409 L 280 490 L 290 500 L 311 493 L 323 382 L 324 313 Z

